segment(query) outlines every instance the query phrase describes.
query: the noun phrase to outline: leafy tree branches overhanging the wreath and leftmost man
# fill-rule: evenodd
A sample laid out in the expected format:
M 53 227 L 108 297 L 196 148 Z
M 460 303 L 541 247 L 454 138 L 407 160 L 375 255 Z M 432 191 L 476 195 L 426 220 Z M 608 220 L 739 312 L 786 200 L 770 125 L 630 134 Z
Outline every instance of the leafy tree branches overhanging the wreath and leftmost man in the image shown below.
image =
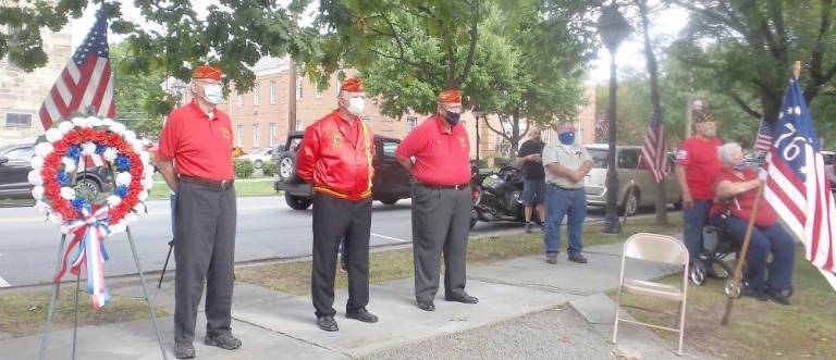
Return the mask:
M 122 1 L 114 0 L 4 4 L 0 25 L 9 30 L 0 34 L 0 57 L 8 55 L 25 71 L 44 66 L 48 57 L 41 30 L 59 32 L 71 18 L 96 7 L 108 18 L 110 30 L 126 37 L 124 66 L 133 73 L 163 69 L 188 80 L 195 65 L 211 63 L 223 69 L 228 84 L 249 89 L 255 79 L 250 66 L 262 57 L 291 54 L 306 66 L 324 62 L 318 34 L 297 26 L 294 13 L 275 0 L 225 0 L 210 5 L 206 18 L 199 18 L 186 0 L 134 0 L 134 5 L 145 23 L 123 16 Z

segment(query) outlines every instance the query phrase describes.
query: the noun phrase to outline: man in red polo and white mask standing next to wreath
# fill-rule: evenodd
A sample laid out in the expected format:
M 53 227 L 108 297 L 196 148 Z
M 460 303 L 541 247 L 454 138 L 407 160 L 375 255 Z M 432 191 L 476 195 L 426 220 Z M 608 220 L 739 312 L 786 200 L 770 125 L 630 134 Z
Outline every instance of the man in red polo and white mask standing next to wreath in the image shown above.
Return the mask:
M 221 70 L 198 66 L 192 103 L 174 109 L 160 134 L 158 169 L 176 197 L 174 356 L 195 357 L 197 307 L 206 282 L 206 345 L 241 347 L 232 335 L 235 188 L 232 126 L 218 110 Z

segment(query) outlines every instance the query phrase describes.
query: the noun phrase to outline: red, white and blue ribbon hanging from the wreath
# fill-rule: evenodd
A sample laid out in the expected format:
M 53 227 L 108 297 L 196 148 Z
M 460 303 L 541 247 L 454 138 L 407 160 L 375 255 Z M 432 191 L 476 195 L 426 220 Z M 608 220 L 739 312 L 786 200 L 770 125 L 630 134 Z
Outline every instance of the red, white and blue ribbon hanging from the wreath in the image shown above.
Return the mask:
M 84 219 L 74 220 L 69 224 L 67 227 L 75 237 L 70 241 L 61 270 L 54 277 L 56 283 L 61 282 L 66 273 L 70 252 L 75 249 L 73 260 L 70 262 L 70 272 L 78 275 L 82 266 L 87 270 L 87 294 L 91 297 L 94 309 L 103 307 L 110 300 L 104 285 L 104 261 L 109 259 L 108 250 L 104 248 L 104 238 L 110 234 L 108 211 L 108 207 L 101 207 L 93 213 L 84 209 L 82 210 Z

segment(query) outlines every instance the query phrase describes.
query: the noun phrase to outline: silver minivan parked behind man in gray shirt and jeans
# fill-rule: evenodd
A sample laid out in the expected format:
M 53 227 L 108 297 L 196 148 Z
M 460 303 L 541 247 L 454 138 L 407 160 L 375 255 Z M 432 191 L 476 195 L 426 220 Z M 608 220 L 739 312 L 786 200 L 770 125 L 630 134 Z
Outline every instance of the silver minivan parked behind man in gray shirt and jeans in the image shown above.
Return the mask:
M 587 150 L 592 156 L 592 170 L 585 179 L 587 203 L 593 207 L 606 206 L 606 144 L 588 145 Z M 635 214 L 640 208 L 652 208 L 656 204 L 656 183 L 650 177 L 644 164 L 639 163 L 640 146 L 616 147 L 616 174 L 618 176 L 618 209 L 620 213 Z M 665 202 L 681 208 L 681 190 L 674 174 L 676 165 L 673 156 L 668 154 L 671 173 L 665 177 Z M 629 189 L 632 188 L 632 191 Z

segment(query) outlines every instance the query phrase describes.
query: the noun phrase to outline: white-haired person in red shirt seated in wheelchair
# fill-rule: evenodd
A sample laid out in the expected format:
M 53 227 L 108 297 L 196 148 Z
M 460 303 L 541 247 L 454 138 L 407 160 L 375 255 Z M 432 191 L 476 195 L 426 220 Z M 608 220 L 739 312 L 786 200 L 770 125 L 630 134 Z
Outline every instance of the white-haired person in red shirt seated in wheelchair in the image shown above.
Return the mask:
M 740 240 L 752 213 L 758 186 L 765 179 L 765 171 L 748 167 L 738 144 L 729 142 L 717 149 L 722 170 L 714 181 L 715 202 L 709 214 L 712 225 L 724 229 L 724 234 Z M 723 224 L 723 213 L 728 216 Z M 766 258 L 772 252 L 772 262 Z M 792 265 L 796 245 L 792 237 L 777 222 L 777 214 L 761 196 L 754 227 L 746 257 L 743 295 L 758 300 L 772 299 L 789 305 Z M 769 268 L 769 271 L 767 271 Z

